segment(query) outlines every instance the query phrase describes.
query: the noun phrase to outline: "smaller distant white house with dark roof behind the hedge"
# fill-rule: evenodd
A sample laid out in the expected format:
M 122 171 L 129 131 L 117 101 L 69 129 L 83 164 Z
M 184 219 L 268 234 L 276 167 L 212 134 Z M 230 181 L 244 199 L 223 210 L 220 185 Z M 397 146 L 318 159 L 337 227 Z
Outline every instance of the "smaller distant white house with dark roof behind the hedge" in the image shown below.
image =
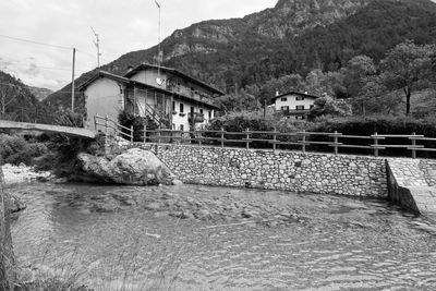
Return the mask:
M 276 112 L 282 112 L 287 118 L 298 120 L 306 119 L 311 109 L 315 106 L 315 100 L 319 98 L 307 93 L 289 92 L 286 94 L 277 94 L 272 98 Z

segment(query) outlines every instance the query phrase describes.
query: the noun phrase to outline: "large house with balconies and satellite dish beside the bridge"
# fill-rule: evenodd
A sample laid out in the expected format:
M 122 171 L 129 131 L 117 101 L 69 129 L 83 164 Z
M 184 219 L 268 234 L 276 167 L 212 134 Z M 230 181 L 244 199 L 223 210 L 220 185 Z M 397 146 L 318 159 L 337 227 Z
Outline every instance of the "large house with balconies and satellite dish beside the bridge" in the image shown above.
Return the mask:
M 215 117 L 211 99 L 222 92 L 175 69 L 141 64 L 125 75 L 99 71 L 80 88 L 85 96 L 85 126 L 94 117 L 117 120 L 121 110 L 150 118 L 162 129 L 190 131 Z

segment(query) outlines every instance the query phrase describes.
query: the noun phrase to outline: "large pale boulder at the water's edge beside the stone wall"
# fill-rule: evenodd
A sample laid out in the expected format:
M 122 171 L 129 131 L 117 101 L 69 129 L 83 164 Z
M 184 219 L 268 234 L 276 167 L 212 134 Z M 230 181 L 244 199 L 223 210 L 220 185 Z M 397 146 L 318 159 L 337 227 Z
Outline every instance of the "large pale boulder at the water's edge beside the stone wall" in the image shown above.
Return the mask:
M 86 174 L 97 181 L 125 185 L 172 184 L 175 177 L 149 150 L 131 148 L 113 158 L 78 154 Z

